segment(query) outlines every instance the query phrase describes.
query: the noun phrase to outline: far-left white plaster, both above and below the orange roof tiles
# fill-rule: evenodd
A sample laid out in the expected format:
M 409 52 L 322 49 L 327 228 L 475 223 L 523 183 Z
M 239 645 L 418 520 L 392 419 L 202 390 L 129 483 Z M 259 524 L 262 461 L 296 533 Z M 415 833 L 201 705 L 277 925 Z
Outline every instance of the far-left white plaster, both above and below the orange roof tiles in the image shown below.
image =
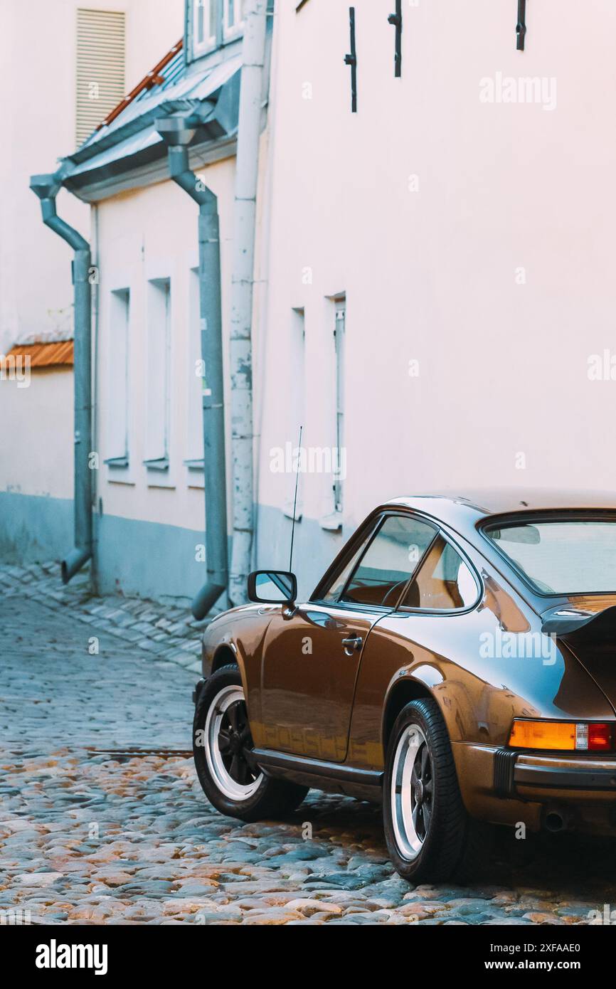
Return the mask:
M 74 149 L 76 10 L 127 12 L 127 91 L 174 45 L 183 0 L 2 0 L 0 354 L 25 333 L 72 327 L 72 251 L 41 220 L 30 176 Z M 90 208 L 62 190 L 59 216 L 90 237 Z M 44 375 L 44 373 L 43 373 Z M 72 497 L 72 374 L 0 382 L 0 491 Z M 25 452 L 26 451 L 26 452 Z

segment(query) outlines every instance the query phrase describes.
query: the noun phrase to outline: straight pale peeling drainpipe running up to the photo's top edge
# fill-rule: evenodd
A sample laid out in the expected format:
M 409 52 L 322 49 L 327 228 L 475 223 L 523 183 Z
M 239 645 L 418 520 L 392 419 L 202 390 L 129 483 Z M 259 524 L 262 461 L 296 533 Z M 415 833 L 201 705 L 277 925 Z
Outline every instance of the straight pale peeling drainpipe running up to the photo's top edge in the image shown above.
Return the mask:
M 267 0 L 249 0 L 242 43 L 229 340 L 233 462 L 231 604 L 241 604 L 246 600 L 246 578 L 250 571 L 254 533 L 252 306 L 267 9 Z

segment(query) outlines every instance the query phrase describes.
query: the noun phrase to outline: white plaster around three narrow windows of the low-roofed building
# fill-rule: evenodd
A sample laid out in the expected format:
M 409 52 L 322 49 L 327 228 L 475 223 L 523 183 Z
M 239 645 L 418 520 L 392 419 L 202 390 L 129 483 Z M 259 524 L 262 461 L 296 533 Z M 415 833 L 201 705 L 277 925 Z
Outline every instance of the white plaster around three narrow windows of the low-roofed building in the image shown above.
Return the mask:
M 233 208 L 234 158 L 225 159 L 199 174 L 219 199 L 222 318 L 225 330 L 225 382 L 230 320 L 230 262 Z M 202 530 L 205 506 L 203 475 L 183 465 L 194 452 L 189 449 L 189 389 L 200 382 L 190 354 L 191 330 L 189 278 L 199 263 L 198 208 L 174 183 L 162 182 L 147 189 L 124 193 L 99 205 L 100 316 L 99 316 L 99 433 L 101 460 L 109 449 L 109 405 L 114 378 L 119 372 L 110 342 L 110 293 L 130 289 L 130 468 L 102 467 L 98 494 L 106 515 L 161 522 Z M 171 427 L 166 474 L 148 472 L 146 456 L 147 394 L 147 283 L 171 280 Z M 230 435 L 227 403 L 227 437 Z M 228 458 L 227 458 L 228 460 Z M 230 474 L 229 474 L 230 478 Z

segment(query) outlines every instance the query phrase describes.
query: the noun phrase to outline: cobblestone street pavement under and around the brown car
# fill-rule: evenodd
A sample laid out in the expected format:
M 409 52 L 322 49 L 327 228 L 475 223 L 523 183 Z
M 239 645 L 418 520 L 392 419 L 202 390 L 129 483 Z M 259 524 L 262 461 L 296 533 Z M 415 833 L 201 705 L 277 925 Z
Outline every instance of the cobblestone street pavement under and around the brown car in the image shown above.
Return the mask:
M 190 748 L 196 675 L 73 612 L 0 596 L 0 921 L 583 924 L 616 906 L 596 840 L 505 835 L 484 884 L 413 889 L 367 804 L 311 791 L 283 822 L 221 817 L 190 759 L 118 754 Z

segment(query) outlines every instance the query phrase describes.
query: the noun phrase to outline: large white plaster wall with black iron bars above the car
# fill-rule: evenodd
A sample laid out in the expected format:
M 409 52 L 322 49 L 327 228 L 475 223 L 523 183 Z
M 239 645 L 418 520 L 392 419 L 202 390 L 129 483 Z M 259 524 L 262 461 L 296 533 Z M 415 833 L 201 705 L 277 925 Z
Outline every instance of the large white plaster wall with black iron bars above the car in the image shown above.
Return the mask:
M 345 522 L 431 489 L 616 488 L 616 382 L 587 375 L 590 355 L 616 354 L 616 6 L 529 4 L 522 53 L 513 0 L 405 2 L 401 79 L 389 8 L 355 7 L 356 115 L 348 4 L 277 7 L 259 500 L 282 507 L 291 490 L 270 451 L 297 443 L 292 307 L 306 309 L 304 443 L 333 443 L 326 297 L 339 292 Z M 482 103 L 496 72 L 555 77 L 556 109 Z M 305 517 L 320 517 L 330 487 L 302 479 Z

